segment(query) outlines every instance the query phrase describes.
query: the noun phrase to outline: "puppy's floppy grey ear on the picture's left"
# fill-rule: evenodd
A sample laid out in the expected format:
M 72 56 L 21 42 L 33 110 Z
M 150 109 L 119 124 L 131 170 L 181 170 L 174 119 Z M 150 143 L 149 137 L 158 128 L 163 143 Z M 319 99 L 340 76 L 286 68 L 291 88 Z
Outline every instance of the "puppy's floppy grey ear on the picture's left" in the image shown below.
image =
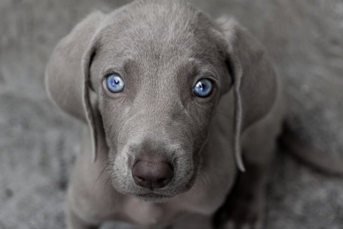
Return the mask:
M 45 71 L 48 94 L 61 109 L 88 124 L 92 160 L 96 160 L 99 128 L 89 98 L 89 67 L 96 51 L 95 37 L 104 14 L 94 12 L 77 24 L 55 47 Z M 98 124 L 99 125 L 99 124 Z

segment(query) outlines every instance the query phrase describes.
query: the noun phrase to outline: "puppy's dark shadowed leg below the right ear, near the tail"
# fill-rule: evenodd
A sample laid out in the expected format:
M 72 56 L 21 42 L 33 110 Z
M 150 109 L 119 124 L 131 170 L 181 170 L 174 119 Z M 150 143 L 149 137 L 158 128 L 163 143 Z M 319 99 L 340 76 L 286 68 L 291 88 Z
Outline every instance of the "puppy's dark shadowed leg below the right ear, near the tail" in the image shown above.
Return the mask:
M 246 171 L 238 175 L 225 204 L 216 213 L 214 224 L 217 228 L 260 229 L 263 226 L 265 186 L 279 129 L 259 127 L 260 124 L 248 130 L 244 137 Z

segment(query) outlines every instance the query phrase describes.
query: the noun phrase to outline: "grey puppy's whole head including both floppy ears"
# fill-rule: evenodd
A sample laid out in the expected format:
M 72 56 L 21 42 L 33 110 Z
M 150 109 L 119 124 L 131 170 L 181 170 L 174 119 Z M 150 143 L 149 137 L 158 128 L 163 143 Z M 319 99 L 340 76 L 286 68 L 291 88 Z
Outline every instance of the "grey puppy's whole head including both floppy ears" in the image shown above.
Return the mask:
M 233 149 L 275 97 L 263 48 L 233 19 L 178 1 L 95 12 L 59 42 L 46 70 L 56 104 L 89 125 L 93 159 L 112 159 L 113 186 L 162 201 L 189 190 L 216 106 L 233 90 Z

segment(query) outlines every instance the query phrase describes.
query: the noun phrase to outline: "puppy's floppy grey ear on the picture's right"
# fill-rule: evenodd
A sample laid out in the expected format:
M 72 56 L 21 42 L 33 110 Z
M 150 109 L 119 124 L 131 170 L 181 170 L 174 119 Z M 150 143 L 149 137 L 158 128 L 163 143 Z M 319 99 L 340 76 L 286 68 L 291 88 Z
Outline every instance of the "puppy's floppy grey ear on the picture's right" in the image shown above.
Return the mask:
M 226 42 L 226 60 L 233 78 L 235 101 L 234 153 L 244 171 L 240 135 L 263 118 L 276 97 L 276 74 L 262 45 L 232 18 L 217 20 Z

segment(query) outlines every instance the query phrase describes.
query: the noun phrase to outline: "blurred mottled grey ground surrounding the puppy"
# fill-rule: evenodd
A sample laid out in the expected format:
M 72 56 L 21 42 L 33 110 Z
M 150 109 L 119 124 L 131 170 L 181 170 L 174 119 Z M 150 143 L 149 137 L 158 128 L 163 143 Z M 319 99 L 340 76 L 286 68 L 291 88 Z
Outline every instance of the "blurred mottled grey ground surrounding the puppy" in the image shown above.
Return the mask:
M 82 124 L 48 100 L 44 68 L 57 42 L 89 12 L 128 2 L 0 0 L 1 229 L 65 227 L 65 191 Z M 290 128 L 343 159 L 343 1 L 189 2 L 213 17 L 234 15 L 265 45 L 286 81 Z M 266 228 L 343 228 L 342 178 L 287 152 L 278 152 L 273 171 Z

